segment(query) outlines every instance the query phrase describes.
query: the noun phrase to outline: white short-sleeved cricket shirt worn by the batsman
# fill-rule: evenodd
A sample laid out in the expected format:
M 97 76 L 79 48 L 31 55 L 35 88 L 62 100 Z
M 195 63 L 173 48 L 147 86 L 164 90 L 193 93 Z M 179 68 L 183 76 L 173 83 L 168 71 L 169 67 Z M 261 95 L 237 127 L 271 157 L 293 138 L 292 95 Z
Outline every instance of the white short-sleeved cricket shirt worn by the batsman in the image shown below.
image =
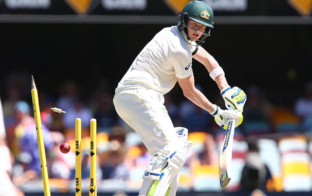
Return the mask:
M 163 95 L 169 92 L 178 78 L 193 75 L 192 53 L 197 52 L 194 41 L 185 40 L 177 26 L 163 28 L 146 44 L 118 83 L 116 92 L 125 86 L 144 83 Z

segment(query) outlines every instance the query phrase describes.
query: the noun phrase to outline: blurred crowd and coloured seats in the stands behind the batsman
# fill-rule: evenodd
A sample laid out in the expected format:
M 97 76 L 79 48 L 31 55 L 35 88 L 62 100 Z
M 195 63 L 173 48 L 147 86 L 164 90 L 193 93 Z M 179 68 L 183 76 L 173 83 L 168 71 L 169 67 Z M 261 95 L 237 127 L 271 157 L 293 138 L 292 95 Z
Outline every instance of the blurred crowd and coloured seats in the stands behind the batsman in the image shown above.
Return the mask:
M 42 180 L 31 94 L 27 87 L 24 89 L 21 84 L 12 82 L 7 86 L 6 96 L 1 97 L 0 169 L 5 175 L 0 174 L 0 183 L 12 182 L 10 186 L 15 186 L 16 195 L 21 196 L 29 184 Z M 68 191 L 75 187 L 72 181 L 75 179 L 76 118 L 82 119 L 81 176 L 87 184 L 90 177 L 89 123 L 95 118 L 98 189 L 101 183 L 110 182 L 111 189 L 120 189 L 120 183 L 112 183 L 118 181 L 129 191 L 138 190 L 151 155 L 137 134 L 116 114 L 112 102 L 114 92 L 101 87 L 86 95 L 74 80 L 64 81 L 58 89 L 60 91 L 53 95 L 38 90 L 51 189 Z M 291 106 L 271 103 L 257 86 L 244 90 L 247 95 L 244 120 L 235 129 L 233 177 L 226 189 L 220 188 L 218 177 L 225 131 L 207 111 L 191 101 L 181 97 L 176 103 L 173 94 L 165 95 L 165 106 L 174 125 L 188 128 L 189 140 L 193 142 L 178 190 L 311 191 L 312 82 L 305 84 L 304 93 L 298 95 Z M 221 101 L 217 103 L 220 106 Z M 61 108 L 66 114 L 53 112 L 51 107 Z M 69 153 L 60 152 L 62 142 L 71 145 Z M 298 178 L 301 180 L 296 180 Z

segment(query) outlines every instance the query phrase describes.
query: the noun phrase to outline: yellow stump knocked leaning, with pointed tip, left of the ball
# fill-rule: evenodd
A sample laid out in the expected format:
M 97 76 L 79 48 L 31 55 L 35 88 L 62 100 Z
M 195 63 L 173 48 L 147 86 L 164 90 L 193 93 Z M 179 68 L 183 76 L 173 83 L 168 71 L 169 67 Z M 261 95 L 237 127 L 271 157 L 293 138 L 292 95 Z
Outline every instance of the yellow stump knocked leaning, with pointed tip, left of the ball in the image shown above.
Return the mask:
M 40 109 L 39 109 L 38 91 L 37 91 L 33 76 L 32 76 L 32 105 L 34 108 L 34 117 L 35 117 L 36 129 L 37 129 L 37 140 L 38 140 L 44 195 L 51 196 L 49 177 L 48 177 L 48 168 L 46 166 L 46 151 L 44 148 L 44 141 L 43 141 L 43 136 L 42 136 L 42 124 L 41 124 L 41 115 L 40 115 Z

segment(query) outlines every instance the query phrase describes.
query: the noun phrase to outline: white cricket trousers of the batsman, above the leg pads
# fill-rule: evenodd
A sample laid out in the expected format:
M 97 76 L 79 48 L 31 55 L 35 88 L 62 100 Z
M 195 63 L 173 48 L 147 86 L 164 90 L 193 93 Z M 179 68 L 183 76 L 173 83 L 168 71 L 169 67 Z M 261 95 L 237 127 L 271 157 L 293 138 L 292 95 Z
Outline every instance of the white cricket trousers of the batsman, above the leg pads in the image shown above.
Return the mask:
M 175 146 L 177 136 L 160 92 L 145 87 L 125 89 L 115 93 L 113 102 L 117 114 L 135 130 L 151 156 Z

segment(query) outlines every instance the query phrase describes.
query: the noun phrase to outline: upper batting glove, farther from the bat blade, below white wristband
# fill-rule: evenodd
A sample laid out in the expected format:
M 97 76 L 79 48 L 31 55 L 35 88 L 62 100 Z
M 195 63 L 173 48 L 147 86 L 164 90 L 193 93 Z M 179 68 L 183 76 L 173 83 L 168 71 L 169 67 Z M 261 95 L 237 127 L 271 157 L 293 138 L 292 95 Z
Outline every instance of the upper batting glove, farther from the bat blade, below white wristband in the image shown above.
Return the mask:
M 246 94 L 243 90 L 234 86 L 222 89 L 221 95 L 224 99 L 225 106 L 228 110 L 238 110 L 243 112 L 244 104 L 246 102 Z

